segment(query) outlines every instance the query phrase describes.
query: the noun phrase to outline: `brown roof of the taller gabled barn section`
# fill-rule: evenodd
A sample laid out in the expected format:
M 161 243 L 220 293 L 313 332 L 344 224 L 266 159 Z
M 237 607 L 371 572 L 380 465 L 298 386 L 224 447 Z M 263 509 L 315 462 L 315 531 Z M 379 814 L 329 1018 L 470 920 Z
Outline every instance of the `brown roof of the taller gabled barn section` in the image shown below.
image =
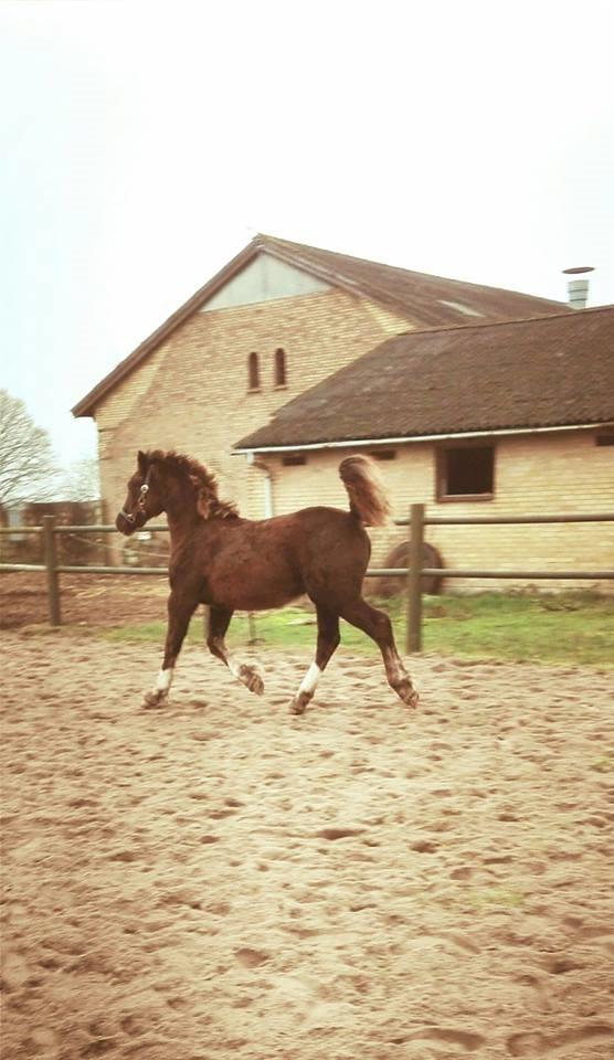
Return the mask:
M 93 415 L 97 402 L 113 386 L 138 368 L 176 328 L 201 309 L 233 276 L 262 253 L 271 254 L 296 268 L 311 273 L 332 286 L 392 308 L 402 316 L 406 316 L 407 322 L 424 327 L 458 324 L 476 315 L 496 320 L 564 311 L 565 308 L 561 303 L 550 301 L 547 298 L 412 273 L 404 268 L 394 268 L 391 265 L 381 265 L 350 257 L 347 254 L 306 246 L 303 243 L 289 243 L 269 235 L 257 235 L 77 402 L 73 409 L 73 415 Z

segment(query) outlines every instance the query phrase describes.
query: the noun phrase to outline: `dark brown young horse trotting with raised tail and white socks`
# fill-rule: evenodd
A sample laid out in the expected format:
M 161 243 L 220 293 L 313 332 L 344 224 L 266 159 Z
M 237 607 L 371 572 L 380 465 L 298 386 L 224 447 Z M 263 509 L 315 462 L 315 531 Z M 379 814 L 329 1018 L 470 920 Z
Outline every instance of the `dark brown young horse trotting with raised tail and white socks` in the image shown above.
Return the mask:
M 371 552 L 364 526 L 382 526 L 389 504 L 373 460 L 349 456 L 339 475 L 350 510 L 304 508 L 289 516 L 251 521 L 218 497 L 213 475 L 197 460 L 160 451 L 139 453 L 128 496 L 116 519 L 129 537 L 148 519 L 166 511 L 171 540 L 168 630 L 162 669 L 147 692 L 147 707 L 168 697 L 177 657 L 199 604 L 210 607 L 209 650 L 250 691 L 262 695 L 257 667 L 236 662 L 224 643 L 233 612 L 282 607 L 307 594 L 316 605 L 315 661 L 290 703 L 301 714 L 339 637 L 339 618 L 363 629 L 378 644 L 390 686 L 415 707 L 417 693 L 405 671 L 388 615 L 361 596 Z

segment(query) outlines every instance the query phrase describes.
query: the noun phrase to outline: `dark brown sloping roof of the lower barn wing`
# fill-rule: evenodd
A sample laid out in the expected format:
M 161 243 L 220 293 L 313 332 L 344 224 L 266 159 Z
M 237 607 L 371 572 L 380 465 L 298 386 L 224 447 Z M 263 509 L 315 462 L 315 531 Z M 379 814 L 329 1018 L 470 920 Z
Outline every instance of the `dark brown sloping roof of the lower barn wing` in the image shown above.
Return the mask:
M 614 421 L 614 306 L 389 339 L 236 449 Z

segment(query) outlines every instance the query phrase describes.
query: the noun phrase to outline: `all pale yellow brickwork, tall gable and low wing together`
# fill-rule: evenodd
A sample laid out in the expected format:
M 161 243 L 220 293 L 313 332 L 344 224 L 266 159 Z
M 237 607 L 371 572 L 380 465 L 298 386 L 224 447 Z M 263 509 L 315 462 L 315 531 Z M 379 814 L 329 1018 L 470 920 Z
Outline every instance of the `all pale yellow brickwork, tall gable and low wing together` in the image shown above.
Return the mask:
M 244 515 L 264 515 L 263 474 L 232 445 L 268 421 L 292 398 L 371 350 L 410 330 L 405 319 L 342 292 L 284 298 L 255 306 L 194 314 L 96 409 L 105 518 L 114 518 L 138 448 L 174 448 L 214 469 L 222 496 Z M 274 386 L 274 351 L 287 354 L 288 385 Z M 247 392 L 247 357 L 261 356 L 258 393 Z M 268 457 L 275 511 L 311 504 L 346 507 L 337 466 L 348 452 L 311 453 L 305 467 L 282 467 Z M 398 458 L 380 469 L 394 497 L 395 515 L 425 502 L 430 513 L 479 515 L 605 510 L 614 507 L 612 449 L 596 447 L 591 432 L 508 436 L 497 441 L 496 492 L 488 502 L 436 504 L 434 446 L 396 446 Z M 402 528 L 373 533 L 380 564 Z M 447 566 L 557 569 L 614 566 L 613 524 L 568 527 L 430 528 L 427 540 Z M 507 581 L 448 580 L 448 591 L 509 587 Z M 522 583 L 519 583 L 522 584 Z M 542 589 L 561 587 L 552 582 Z M 582 583 L 562 583 L 567 587 Z M 612 583 L 604 583 L 604 589 Z

